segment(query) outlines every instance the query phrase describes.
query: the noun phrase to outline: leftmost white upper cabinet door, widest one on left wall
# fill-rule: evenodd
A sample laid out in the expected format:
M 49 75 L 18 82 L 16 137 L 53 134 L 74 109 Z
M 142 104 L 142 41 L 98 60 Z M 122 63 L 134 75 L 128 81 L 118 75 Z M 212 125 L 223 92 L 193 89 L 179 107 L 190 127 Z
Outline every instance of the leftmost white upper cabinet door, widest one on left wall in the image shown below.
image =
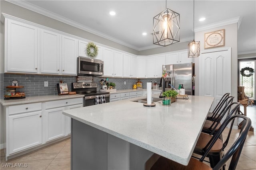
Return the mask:
M 5 20 L 5 72 L 38 73 L 38 28 Z

